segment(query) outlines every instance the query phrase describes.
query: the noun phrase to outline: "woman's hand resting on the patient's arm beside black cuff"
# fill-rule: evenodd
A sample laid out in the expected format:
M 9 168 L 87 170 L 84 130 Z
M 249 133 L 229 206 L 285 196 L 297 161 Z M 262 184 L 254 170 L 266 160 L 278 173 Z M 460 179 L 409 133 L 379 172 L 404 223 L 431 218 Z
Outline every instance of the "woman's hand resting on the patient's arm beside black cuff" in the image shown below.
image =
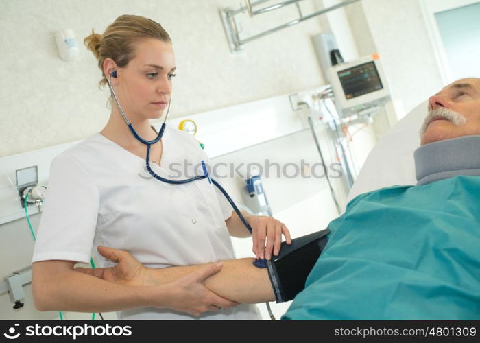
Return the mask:
M 278 256 L 282 235 L 287 244 L 291 244 L 290 231 L 287 226 L 274 217 L 250 215 L 247 218 L 252 228 L 253 252 L 257 259 L 272 259 L 272 252 Z

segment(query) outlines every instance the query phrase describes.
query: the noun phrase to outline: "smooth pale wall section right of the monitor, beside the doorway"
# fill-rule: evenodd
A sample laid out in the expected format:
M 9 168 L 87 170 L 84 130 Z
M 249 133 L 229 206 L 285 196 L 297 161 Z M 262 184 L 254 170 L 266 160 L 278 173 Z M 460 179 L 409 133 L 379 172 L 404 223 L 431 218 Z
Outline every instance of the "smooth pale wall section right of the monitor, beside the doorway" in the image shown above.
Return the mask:
M 444 86 L 422 0 L 361 0 L 346 12 L 359 54 L 381 57 L 398 119 Z

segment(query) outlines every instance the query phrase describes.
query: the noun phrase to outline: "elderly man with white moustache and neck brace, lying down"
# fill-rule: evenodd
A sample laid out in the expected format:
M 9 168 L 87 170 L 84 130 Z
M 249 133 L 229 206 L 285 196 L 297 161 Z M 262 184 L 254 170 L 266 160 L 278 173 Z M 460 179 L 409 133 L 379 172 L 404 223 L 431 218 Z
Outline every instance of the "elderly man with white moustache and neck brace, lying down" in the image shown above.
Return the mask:
M 420 135 L 418 184 L 357 196 L 329 224 L 325 248 L 322 235 L 314 237 L 322 255 L 283 318 L 480 318 L 480 79 L 458 80 L 433 95 Z M 308 262 L 312 253 L 300 246 Z M 79 271 L 130 285 L 175 282 L 205 268 L 152 270 L 128 252 L 99 251 L 119 264 Z M 287 258 L 268 271 L 252 259 L 224 261 L 205 285 L 237 302 L 279 300 L 304 267 L 302 259 Z

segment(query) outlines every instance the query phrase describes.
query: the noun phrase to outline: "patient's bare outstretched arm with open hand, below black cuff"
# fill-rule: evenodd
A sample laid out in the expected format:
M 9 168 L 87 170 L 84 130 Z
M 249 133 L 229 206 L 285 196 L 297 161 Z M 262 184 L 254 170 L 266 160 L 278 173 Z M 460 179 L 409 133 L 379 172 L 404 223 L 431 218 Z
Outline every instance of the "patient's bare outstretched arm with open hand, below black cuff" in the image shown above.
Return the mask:
M 176 281 L 204 265 L 170 268 L 145 268 L 129 252 L 99 246 L 100 254 L 118 264 L 112 268 L 75 268 L 79 272 L 97 276 L 106 281 L 128 285 L 163 285 Z M 256 268 L 254 259 L 221 261 L 223 267 L 205 281 L 212 292 L 237 303 L 263 303 L 274 301 L 274 291 L 267 268 Z

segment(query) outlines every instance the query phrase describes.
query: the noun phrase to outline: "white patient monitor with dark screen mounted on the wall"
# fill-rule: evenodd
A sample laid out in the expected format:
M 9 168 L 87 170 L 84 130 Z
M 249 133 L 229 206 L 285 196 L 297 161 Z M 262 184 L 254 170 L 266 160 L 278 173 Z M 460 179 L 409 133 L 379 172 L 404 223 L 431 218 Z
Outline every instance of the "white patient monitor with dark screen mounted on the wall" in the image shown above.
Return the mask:
M 340 108 L 361 106 L 389 95 L 376 55 L 337 64 L 331 67 L 328 75 Z

